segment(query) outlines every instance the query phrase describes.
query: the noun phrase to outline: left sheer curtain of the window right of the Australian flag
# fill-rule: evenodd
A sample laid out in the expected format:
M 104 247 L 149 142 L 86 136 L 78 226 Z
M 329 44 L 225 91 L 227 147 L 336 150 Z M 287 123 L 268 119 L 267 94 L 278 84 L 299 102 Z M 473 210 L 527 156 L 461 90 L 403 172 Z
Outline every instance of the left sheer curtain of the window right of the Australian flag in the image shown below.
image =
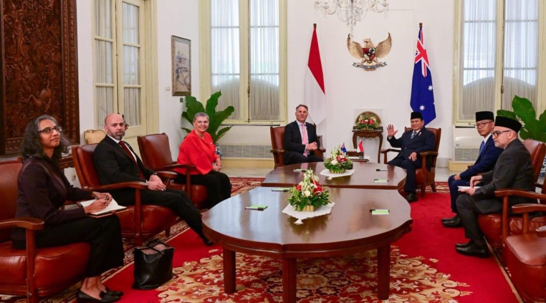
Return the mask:
M 458 118 L 495 110 L 496 0 L 465 0 Z

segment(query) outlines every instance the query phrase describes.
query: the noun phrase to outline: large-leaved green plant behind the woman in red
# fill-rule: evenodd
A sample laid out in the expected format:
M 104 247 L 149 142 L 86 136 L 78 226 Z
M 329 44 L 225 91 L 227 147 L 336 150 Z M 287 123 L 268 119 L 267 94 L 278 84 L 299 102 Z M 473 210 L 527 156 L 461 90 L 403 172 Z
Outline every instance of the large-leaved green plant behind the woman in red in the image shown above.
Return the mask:
M 186 111 L 182 112 L 182 119 L 185 119 L 189 124 L 193 124 L 193 117 L 196 113 L 204 112 L 209 115 L 209 129 L 207 132 L 212 137 L 212 141 L 218 146 L 218 140 L 225 135 L 225 133 L 232 128 L 232 126 L 226 126 L 225 128 L 219 129 L 222 122 L 227 119 L 235 111 L 233 106 L 228 106 L 222 111 L 216 111 L 216 106 L 218 106 L 218 99 L 222 95 L 221 92 L 213 93 L 209 100 L 206 101 L 206 105 L 203 104 L 194 96 L 186 97 Z M 188 128 L 182 128 L 188 134 L 192 131 Z

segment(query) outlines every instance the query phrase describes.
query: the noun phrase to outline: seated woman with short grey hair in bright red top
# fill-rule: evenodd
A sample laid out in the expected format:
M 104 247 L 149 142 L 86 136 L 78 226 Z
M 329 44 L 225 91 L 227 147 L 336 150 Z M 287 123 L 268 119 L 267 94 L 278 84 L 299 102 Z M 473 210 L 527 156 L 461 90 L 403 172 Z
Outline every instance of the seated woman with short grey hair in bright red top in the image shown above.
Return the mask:
M 206 130 L 209 128 L 209 115 L 197 113 L 193 117 L 193 130 L 180 144 L 178 154 L 179 164 L 191 164 L 195 166 L 190 172 L 192 184 L 200 184 L 206 187 L 206 207 L 212 208 L 219 202 L 229 198 L 232 193 L 232 184 L 229 177 L 220 172 L 222 161 L 216 154 L 216 148 L 212 137 Z M 185 183 L 186 169 L 176 168 L 179 173 L 176 181 Z

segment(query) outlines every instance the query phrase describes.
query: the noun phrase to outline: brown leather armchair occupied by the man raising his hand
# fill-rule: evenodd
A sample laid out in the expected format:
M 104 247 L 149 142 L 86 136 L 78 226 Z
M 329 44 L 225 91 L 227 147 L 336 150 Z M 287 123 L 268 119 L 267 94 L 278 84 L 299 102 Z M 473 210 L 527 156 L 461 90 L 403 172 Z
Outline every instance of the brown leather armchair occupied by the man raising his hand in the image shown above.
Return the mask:
M 438 149 L 440 149 L 440 138 L 442 137 L 442 129 L 438 128 L 426 128 L 431 131 L 435 137 L 435 147 L 434 151 L 430 152 L 420 152 L 419 156 L 423 159 L 423 164 L 421 168 L 417 168 L 415 171 L 415 181 L 417 187 L 421 188 L 421 196 L 425 196 L 425 188 L 429 186 L 432 188 L 432 191 L 436 192 L 436 184 L 434 178 L 436 177 L 436 159 L 438 157 Z M 406 128 L 405 131 L 411 130 L 411 128 Z M 387 153 L 396 152 L 399 153 L 400 149 L 382 149 L 381 153 L 383 154 L 383 163 L 387 164 Z M 428 161 L 428 163 L 427 163 Z M 430 169 L 427 168 L 430 167 Z

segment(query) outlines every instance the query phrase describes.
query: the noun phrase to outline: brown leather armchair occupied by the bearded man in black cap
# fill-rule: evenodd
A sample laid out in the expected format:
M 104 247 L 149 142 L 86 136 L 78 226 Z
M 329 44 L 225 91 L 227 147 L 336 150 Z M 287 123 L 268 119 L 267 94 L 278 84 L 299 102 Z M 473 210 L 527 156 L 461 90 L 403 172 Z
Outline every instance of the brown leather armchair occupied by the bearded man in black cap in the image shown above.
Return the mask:
M 531 163 L 533 165 L 533 173 L 535 175 L 535 182 L 538 179 L 538 174 L 541 171 L 542 162 L 544 161 L 544 155 L 546 153 L 546 145 L 536 140 L 525 140 L 525 147 L 531 154 Z M 542 193 L 546 194 L 546 188 L 542 184 L 536 184 L 537 187 L 542 187 Z M 524 191 L 518 190 L 498 190 L 495 192 L 497 197 L 503 197 L 503 206 L 501 214 L 486 214 L 478 216 L 478 225 L 482 230 L 485 239 L 495 248 L 501 248 L 504 239 L 508 234 L 520 234 L 523 223 L 521 217 L 508 215 L 508 197 L 512 195 L 521 196 Z M 546 196 L 545 196 L 546 197 Z M 542 197 L 541 199 L 546 199 Z M 531 220 L 531 227 L 537 228 L 539 226 L 546 225 L 546 217 L 536 217 Z M 504 228 L 506 226 L 506 229 Z M 503 232 L 504 231 L 504 232 Z M 505 233 L 505 234 L 503 234 Z

